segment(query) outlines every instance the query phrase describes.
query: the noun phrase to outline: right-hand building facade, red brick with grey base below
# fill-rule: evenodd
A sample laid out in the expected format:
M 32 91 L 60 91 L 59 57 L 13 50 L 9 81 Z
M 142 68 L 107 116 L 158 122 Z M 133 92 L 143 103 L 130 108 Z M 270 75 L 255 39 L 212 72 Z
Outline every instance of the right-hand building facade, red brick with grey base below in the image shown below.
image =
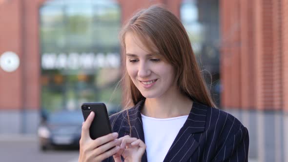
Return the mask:
M 222 106 L 247 125 L 249 154 L 288 162 L 288 0 L 220 0 Z

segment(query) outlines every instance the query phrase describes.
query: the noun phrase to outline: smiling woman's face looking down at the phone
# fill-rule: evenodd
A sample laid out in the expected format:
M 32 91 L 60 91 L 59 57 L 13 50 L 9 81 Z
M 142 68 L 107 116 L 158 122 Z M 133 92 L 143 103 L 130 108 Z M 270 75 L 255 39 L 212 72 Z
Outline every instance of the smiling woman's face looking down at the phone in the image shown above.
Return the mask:
M 171 64 L 159 54 L 149 52 L 130 32 L 125 35 L 125 46 L 127 72 L 145 98 L 160 98 L 175 91 L 174 68 Z

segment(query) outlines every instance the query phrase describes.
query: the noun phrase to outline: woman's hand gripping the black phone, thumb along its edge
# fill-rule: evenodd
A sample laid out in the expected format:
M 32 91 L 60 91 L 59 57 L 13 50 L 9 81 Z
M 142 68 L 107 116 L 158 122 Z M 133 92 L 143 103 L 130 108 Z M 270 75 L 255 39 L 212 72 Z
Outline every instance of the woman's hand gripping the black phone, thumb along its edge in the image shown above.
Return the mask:
M 79 162 L 101 162 L 120 150 L 121 141 L 117 139 L 118 133 L 111 133 L 95 140 L 90 138 L 89 127 L 94 116 L 94 112 L 91 112 L 82 125 Z M 110 148 L 112 149 L 109 150 Z

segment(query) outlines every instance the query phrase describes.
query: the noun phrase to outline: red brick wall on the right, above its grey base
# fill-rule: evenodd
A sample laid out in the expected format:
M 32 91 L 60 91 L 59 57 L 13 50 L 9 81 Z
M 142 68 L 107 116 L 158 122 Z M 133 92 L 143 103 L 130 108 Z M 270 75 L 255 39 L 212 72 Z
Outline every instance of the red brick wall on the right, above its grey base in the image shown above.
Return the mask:
M 287 110 L 287 0 L 220 3 L 222 106 Z

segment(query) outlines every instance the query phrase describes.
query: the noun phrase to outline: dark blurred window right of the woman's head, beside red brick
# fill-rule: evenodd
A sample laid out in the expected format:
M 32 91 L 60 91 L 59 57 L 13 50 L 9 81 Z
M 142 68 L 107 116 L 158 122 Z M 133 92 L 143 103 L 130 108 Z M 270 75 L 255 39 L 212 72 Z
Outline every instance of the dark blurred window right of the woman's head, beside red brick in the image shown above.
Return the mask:
M 219 1 L 183 0 L 180 18 L 192 43 L 214 101 L 220 105 Z

